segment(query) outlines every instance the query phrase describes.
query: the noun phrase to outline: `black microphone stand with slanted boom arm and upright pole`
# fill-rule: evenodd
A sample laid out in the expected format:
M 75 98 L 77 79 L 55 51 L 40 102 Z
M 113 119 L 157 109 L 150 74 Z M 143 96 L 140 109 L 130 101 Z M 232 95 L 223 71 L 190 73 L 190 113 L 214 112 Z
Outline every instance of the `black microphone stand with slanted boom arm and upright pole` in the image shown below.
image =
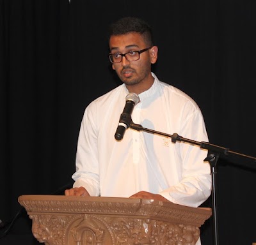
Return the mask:
M 130 123 L 128 123 L 128 121 Z M 237 156 L 242 156 L 244 158 L 250 158 L 254 161 L 256 161 L 256 158 L 253 158 L 252 156 L 247 156 L 238 152 L 234 152 L 234 151 L 230 151 L 229 149 L 225 148 L 225 147 L 221 147 L 218 145 L 214 145 L 211 144 L 209 142 L 198 142 L 195 140 L 190 140 L 188 138 L 183 138 L 181 136 L 179 136 L 177 133 L 173 133 L 173 135 L 169 135 L 167 133 L 162 133 L 156 130 L 150 130 L 148 128 L 143 128 L 143 126 L 141 126 L 140 124 L 134 124 L 131 120 L 131 116 L 129 118 L 127 118 L 127 124 L 129 124 L 129 127 L 132 128 L 133 130 L 137 130 L 137 131 L 145 131 L 147 133 L 152 133 L 152 134 L 156 134 L 156 135 L 162 135 L 164 137 L 170 137 L 172 138 L 172 142 L 176 143 L 177 141 L 179 142 L 187 142 L 189 144 L 193 144 L 193 145 L 199 145 L 200 148 L 202 149 L 207 149 L 208 150 L 208 154 L 207 157 L 205 158 L 204 161 L 209 161 L 210 165 L 211 165 L 211 177 L 212 177 L 212 219 L 213 219 L 213 234 L 214 234 L 214 245 L 218 245 L 218 221 L 217 221 L 217 205 L 216 205 L 216 165 L 217 165 L 217 161 L 219 159 L 220 154 L 235 154 Z

